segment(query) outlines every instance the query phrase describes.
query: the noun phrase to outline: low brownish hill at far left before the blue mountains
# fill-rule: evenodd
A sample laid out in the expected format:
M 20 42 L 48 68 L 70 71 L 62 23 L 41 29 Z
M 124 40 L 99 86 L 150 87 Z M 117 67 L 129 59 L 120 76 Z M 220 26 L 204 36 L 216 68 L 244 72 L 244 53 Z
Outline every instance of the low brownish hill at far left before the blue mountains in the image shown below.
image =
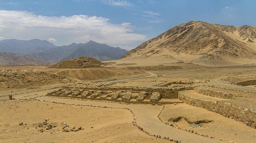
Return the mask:
M 43 64 L 38 60 L 30 58 L 24 54 L 11 52 L 0 52 L 0 65 L 38 65 Z

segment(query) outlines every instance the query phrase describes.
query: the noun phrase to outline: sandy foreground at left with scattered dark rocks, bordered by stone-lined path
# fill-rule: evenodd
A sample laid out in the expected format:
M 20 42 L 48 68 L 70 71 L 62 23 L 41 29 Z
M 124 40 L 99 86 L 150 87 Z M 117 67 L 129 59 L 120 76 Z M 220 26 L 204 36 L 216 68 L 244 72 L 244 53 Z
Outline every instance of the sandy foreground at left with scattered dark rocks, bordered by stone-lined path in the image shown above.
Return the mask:
M 132 125 L 132 114 L 124 109 L 79 107 L 54 103 L 0 101 L 1 143 L 138 143 L 169 142 L 148 136 Z M 58 125 L 39 132 L 46 118 Z M 23 125 L 19 125 L 23 122 Z M 78 132 L 63 132 L 61 123 L 83 127 Z M 25 125 L 27 124 L 27 125 Z

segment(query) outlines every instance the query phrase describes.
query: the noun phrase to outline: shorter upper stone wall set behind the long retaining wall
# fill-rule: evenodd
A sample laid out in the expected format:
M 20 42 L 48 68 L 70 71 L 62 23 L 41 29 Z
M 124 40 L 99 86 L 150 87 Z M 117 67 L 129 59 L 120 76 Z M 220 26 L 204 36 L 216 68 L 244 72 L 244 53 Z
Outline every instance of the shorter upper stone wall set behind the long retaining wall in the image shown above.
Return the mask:
M 207 95 L 207 96 L 212 96 L 212 97 L 217 97 L 217 98 L 224 98 L 224 99 L 232 99 L 233 98 L 233 94 L 227 94 L 225 92 L 218 92 L 218 91 L 213 91 L 210 89 L 206 89 L 203 87 L 195 87 L 194 91 L 199 93 L 199 94 L 203 94 L 203 95 Z

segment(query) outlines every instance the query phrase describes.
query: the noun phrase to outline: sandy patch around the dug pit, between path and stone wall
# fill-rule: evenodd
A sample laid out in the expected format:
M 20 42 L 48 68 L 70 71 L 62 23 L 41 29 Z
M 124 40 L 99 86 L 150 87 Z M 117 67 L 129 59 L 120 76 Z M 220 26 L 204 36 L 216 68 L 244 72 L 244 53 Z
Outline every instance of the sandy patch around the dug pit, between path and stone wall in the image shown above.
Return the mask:
M 194 107 L 185 103 L 177 105 L 165 105 L 165 109 L 161 114 L 161 119 L 166 123 L 170 118 L 183 116 L 189 121 L 198 121 L 203 119 L 213 120 L 211 123 L 203 123 L 204 127 L 190 129 L 189 123 L 185 120 L 175 122 L 182 129 L 194 130 L 200 134 L 207 134 L 215 138 L 223 138 L 226 141 L 234 141 L 237 143 L 255 143 L 256 131 L 243 123 L 239 123 L 234 119 L 225 118 L 217 113 L 208 111 L 203 108 Z

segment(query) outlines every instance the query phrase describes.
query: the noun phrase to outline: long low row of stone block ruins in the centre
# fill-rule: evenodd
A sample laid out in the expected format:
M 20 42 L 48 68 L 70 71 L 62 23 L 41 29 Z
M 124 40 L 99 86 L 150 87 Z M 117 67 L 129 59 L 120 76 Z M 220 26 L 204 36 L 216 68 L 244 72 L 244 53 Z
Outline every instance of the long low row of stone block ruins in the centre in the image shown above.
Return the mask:
M 161 100 L 159 92 L 145 92 L 145 91 L 102 91 L 102 90 L 88 90 L 82 88 L 65 87 L 58 91 L 53 91 L 47 94 L 48 96 L 60 96 L 69 98 L 81 98 L 87 100 L 106 100 L 126 103 L 154 103 L 158 104 Z

